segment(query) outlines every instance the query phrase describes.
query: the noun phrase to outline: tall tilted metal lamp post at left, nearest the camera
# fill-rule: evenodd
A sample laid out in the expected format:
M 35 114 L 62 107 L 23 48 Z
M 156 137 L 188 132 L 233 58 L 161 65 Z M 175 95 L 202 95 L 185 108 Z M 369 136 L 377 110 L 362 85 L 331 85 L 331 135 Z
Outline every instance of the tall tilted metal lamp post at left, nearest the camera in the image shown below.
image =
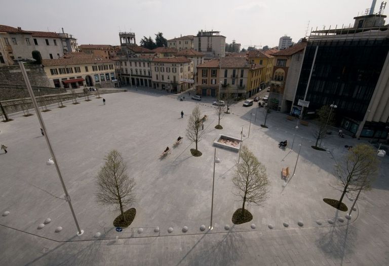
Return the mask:
M 77 218 L 75 216 L 75 212 L 74 212 L 73 206 L 71 204 L 70 196 L 67 193 L 67 189 L 66 189 L 65 183 L 63 181 L 62 174 L 61 174 L 61 171 L 59 169 L 59 165 L 58 165 L 57 159 L 55 157 L 53 147 L 51 146 L 49 135 L 47 134 L 45 122 L 43 121 L 41 112 L 39 111 L 38 104 L 36 103 L 36 99 L 34 97 L 34 93 L 32 92 L 31 84 L 30 84 L 30 81 L 28 79 L 27 72 L 24 69 L 24 65 L 23 65 L 22 61 L 19 61 L 19 66 L 20 66 L 20 69 L 22 71 L 22 74 L 23 74 L 23 77 L 24 77 L 24 81 L 26 82 L 27 91 L 30 94 L 31 101 L 32 101 L 32 104 L 33 104 L 35 112 L 36 112 L 36 116 L 38 117 L 38 120 L 39 120 L 39 122 L 41 124 L 41 127 L 42 127 L 43 131 L 44 131 L 46 143 L 47 143 L 47 146 L 49 147 L 49 151 L 50 151 L 50 154 L 52 156 L 52 158 L 49 159 L 47 164 L 48 165 L 55 164 L 55 168 L 57 169 L 59 180 L 61 181 L 61 185 L 62 185 L 63 191 L 65 193 L 65 201 L 69 204 L 69 208 L 70 208 L 71 214 L 73 215 L 75 226 L 77 227 L 77 236 L 81 236 L 82 234 L 84 234 L 84 230 L 80 229 L 79 222 L 77 221 Z

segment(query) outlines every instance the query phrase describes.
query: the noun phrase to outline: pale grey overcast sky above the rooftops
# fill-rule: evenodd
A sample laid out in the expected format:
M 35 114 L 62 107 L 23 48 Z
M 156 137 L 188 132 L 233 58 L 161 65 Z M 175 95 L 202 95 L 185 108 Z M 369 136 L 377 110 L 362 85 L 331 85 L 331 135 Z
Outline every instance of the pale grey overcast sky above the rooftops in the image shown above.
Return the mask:
M 3 3 L 2 3 L 3 2 Z M 136 42 L 161 31 L 165 38 L 217 30 L 226 42 L 243 47 L 278 45 L 285 34 L 293 41 L 311 27 L 354 23 L 371 0 L 0 0 L 0 24 L 24 30 L 73 34 L 79 45 L 120 45 L 119 31 L 132 31 Z M 5 4 L 6 3 L 6 4 Z M 378 12 L 381 1 L 377 1 Z M 389 7 L 388 7 L 389 8 Z M 389 12 L 389 11 L 388 11 Z M 383 14 L 386 14 L 384 11 Z M 243 48 L 242 47 L 242 48 Z

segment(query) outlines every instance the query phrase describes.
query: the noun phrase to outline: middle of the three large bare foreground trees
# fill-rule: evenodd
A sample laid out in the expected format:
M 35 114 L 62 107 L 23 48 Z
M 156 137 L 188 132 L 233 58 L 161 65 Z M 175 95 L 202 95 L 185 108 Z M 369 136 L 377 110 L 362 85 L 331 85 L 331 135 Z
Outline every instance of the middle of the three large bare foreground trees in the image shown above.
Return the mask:
M 243 200 L 242 215 L 244 215 L 246 202 L 260 205 L 266 200 L 269 182 L 266 167 L 246 146 L 241 149 L 242 161 L 237 165 L 232 182 L 238 189 L 237 196 Z

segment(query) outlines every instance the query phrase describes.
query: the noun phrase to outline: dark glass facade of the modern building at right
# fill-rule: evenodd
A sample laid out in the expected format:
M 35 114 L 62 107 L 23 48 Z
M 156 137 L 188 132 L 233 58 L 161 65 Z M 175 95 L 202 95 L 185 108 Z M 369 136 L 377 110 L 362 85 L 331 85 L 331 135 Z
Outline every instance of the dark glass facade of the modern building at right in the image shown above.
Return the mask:
M 304 99 L 316 47 L 318 52 L 306 96 L 309 107 L 304 114 L 335 102 L 337 125 L 355 133 L 381 73 L 389 39 L 309 41 L 293 107 L 297 115 L 300 112 L 297 102 Z

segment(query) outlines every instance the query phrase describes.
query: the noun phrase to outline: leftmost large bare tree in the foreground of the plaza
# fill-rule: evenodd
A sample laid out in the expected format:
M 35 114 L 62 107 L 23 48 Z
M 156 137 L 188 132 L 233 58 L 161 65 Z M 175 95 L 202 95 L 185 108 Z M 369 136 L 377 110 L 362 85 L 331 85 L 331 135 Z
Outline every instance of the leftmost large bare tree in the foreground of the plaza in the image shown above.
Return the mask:
M 97 202 L 119 208 L 123 221 L 126 221 L 123 209 L 135 201 L 135 182 L 128 177 L 126 171 L 127 164 L 123 161 L 122 154 L 111 150 L 105 156 L 105 164 L 97 175 Z

